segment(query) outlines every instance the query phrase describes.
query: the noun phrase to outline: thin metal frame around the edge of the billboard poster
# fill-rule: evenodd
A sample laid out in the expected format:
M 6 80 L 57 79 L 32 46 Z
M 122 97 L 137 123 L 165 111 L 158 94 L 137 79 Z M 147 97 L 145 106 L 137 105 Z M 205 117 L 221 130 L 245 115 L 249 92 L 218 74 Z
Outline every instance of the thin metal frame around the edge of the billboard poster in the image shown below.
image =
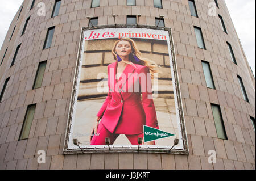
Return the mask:
M 182 141 L 183 141 L 183 149 L 171 149 L 171 146 L 167 146 L 166 149 L 163 148 L 130 148 L 118 146 L 118 145 L 111 145 L 109 147 L 108 145 L 103 146 L 102 148 L 80 148 L 77 146 L 76 149 L 68 149 L 68 142 L 69 142 L 69 136 L 70 136 L 70 130 L 71 130 L 71 124 L 72 124 L 72 112 L 74 110 L 74 102 L 75 102 L 75 92 L 77 87 L 77 78 L 79 77 L 79 67 L 81 63 L 81 54 L 82 52 L 82 43 L 83 43 L 83 37 L 84 32 L 88 30 L 97 30 L 97 29 L 103 29 L 103 28 L 148 28 L 153 30 L 164 30 L 168 31 L 170 40 L 170 46 L 171 46 L 171 56 L 172 56 L 172 65 L 174 66 L 174 77 L 175 77 L 175 87 L 176 87 L 176 94 L 177 94 L 177 104 L 179 111 L 179 117 L 180 117 L 180 128 L 181 128 L 181 134 L 182 134 Z M 170 143 L 172 145 L 173 143 Z M 168 148 L 170 147 L 170 148 Z M 172 35 L 172 29 L 166 28 L 166 27 L 155 27 L 155 26 L 143 26 L 143 25 L 110 25 L 110 26 L 97 26 L 97 27 L 83 27 L 81 28 L 81 35 L 80 35 L 80 42 L 79 42 L 79 49 L 77 53 L 77 61 L 76 61 L 76 68 L 75 68 L 75 75 L 73 79 L 73 86 L 72 86 L 72 93 L 71 93 L 71 100 L 69 102 L 69 112 L 68 112 L 68 121 L 67 121 L 67 127 L 65 131 L 65 140 L 64 140 L 64 148 L 63 148 L 63 154 L 84 154 L 84 153 L 165 153 L 165 154 L 181 154 L 181 155 L 189 155 L 189 148 L 188 148 L 188 138 L 187 138 L 187 131 L 185 129 L 185 120 L 184 120 L 184 112 L 183 112 L 183 106 L 182 106 L 182 98 L 181 98 L 181 91 L 179 86 L 179 77 L 177 74 L 177 63 L 176 63 L 176 55 L 175 55 L 175 46 L 174 46 L 174 38 Z

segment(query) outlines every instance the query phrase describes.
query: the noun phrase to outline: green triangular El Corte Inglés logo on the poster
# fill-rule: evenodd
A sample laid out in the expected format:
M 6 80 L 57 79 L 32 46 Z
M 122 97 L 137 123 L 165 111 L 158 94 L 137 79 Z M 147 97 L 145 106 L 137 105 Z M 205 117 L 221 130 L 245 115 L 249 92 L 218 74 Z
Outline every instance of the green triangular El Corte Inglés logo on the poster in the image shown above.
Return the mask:
M 145 142 L 154 141 L 154 140 L 158 140 L 158 139 L 162 139 L 170 136 L 175 136 L 175 134 L 167 133 L 159 129 L 155 129 L 155 128 L 144 125 L 144 141 Z

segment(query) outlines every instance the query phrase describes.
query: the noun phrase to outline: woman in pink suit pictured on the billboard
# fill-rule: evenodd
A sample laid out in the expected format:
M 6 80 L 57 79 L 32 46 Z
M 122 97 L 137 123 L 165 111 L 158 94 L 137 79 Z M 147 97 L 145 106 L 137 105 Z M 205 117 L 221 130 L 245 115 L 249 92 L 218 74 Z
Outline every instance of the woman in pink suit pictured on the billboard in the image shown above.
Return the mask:
M 108 66 L 109 93 L 92 130 L 98 136 L 94 134 L 90 145 L 105 145 L 106 137 L 113 145 L 119 134 L 125 134 L 132 145 L 138 145 L 138 137 L 144 137 L 143 125 L 159 129 L 150 74 L 156 72 L 157 65 L 142 58 L 129 38 L 115 41 L 112 54 L 115 62 Z M 155 145 L 155 142 L 143 141 L 143 144 Z

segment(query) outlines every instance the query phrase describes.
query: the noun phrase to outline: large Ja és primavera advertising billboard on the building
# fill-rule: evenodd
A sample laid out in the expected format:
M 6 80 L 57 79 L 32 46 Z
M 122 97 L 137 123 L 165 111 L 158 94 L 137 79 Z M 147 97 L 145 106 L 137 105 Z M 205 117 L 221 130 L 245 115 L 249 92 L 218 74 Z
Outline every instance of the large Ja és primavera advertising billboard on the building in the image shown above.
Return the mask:
M 81 151 L 188 154 L 170 28 L 82 29 L 64 154 Z

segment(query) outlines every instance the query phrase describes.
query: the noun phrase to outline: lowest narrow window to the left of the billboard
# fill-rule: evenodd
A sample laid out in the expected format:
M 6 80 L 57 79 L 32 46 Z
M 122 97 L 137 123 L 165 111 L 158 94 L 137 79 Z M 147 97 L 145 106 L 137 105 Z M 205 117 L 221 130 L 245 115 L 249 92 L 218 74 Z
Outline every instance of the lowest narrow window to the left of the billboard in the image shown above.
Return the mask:
M 20 132 L 19 140 L 26 140 L 30 135 L 32 121 L 35 115 L 36 104 L 27 107 L 25 119 L 23 121 L 22 130 Z

